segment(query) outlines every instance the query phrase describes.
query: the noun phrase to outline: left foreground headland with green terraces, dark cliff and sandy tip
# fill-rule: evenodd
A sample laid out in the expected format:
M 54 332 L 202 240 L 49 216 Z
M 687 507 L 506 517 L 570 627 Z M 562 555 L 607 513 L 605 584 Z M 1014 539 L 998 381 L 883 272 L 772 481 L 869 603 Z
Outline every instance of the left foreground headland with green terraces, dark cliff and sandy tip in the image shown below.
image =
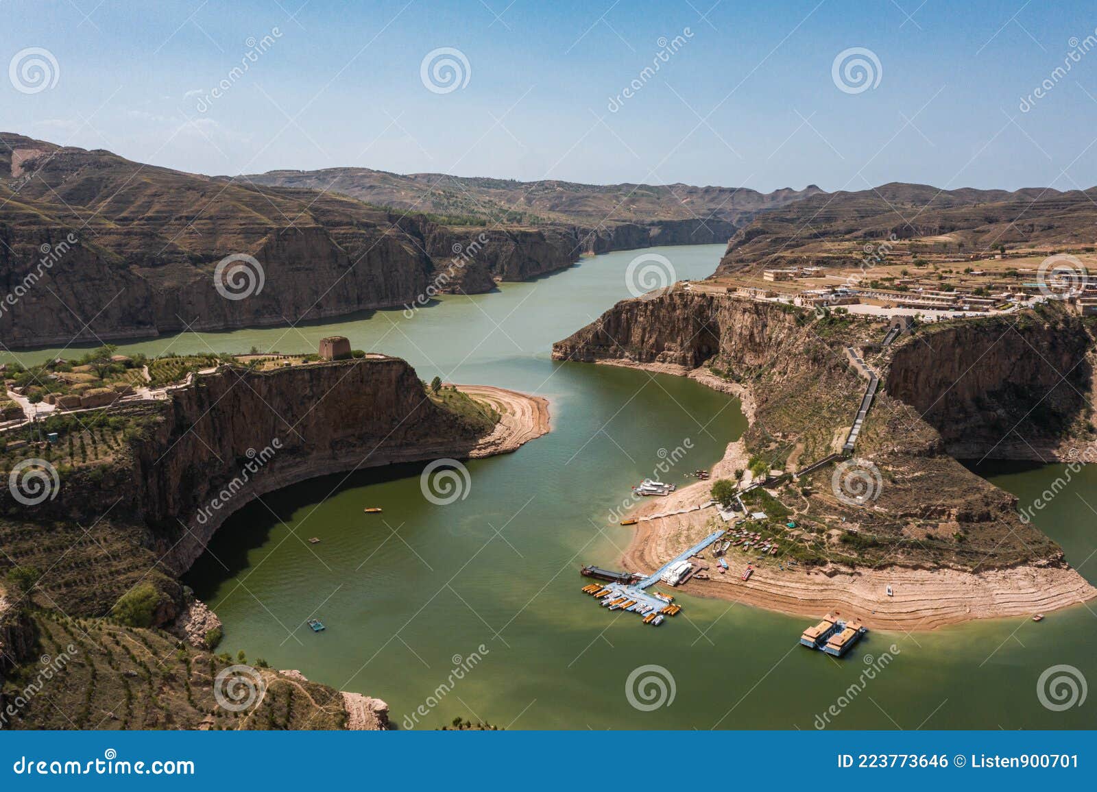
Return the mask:
M 0 729 L 387 728 L 384 702 L 260 659 L 249 675 L 265 695 L 246 715 L 226 709 L 218 667 L 239 669 L 242 653 L 215 654 L 220 622 L 178 576 L 263 494 L 361 467 L 505 453 L 547 431 L 544 399 L 468 392 L 428 391 L 405 361 L 374 354 L 224 364 L 166 399 L 60 416 L 50 427 L 61 437 L 35 446 L 39 466 L 56 463 L 46 495 L 0 490 Z M 43 688 L 45 674 L 65 683 Z M 155 695 L 134 693 L 146 683 Z

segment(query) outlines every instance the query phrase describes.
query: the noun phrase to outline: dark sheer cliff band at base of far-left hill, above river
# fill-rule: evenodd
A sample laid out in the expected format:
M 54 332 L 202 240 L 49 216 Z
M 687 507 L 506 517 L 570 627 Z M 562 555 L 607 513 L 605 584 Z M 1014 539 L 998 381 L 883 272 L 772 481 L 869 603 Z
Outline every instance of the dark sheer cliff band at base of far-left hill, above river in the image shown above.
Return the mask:
M 41 247 L 57 245 L 65 234 L 64 226 L 33 231 L 0 224 L 5 242 L 0 291 L 15 292 L 38 270 Z M 340 316 L 410 303 L 433 273 L 430 259 L 414 245 L 380 228 L 343 239 L 319 227 L 284 228 L 262 234 L 246 248 L 260 263 L 261 290 L 228 299 L 214 283 L 217 258 L 161 265 L 137 251 L 132 260 L 129 253 L 120 258 L 104 249 L 106 241 L 103 235 L 81 237 L 32 287 L 20 290 L 19 301 L 0 314 L 5 344 L 94 343 L 188 327 L 214 330 Z M 166 267 L 173 271 L 165 272 Z

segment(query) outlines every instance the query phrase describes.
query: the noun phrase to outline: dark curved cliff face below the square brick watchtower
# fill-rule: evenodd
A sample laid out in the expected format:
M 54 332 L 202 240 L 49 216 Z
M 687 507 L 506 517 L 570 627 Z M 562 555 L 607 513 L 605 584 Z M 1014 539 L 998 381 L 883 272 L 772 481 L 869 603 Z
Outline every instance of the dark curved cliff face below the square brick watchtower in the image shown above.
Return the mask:
M 490 428 L 437 405 L 394 358 L 229 369 L 172 398 L 156 437 L 138 446 L 134 486 L 165 565 L 181 574 L 258 495 L 329 473 L 464 456 Z

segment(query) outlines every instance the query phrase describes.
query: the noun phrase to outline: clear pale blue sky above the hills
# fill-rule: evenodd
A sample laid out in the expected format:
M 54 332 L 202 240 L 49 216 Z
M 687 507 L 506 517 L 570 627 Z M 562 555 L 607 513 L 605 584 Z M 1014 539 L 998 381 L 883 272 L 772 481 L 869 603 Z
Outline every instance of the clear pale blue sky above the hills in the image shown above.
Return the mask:
M 204 173 L 1097 183 L 1097 8 L 919 2 L 5 0 L 0 66 L 30 47 L 57 66 L 34 93 L 0 75 L 0 128 Z M 467 83 L 437 92 L 420 66 L 443 47 Z M 853 47 L 879 61 L 861 92 L 832 75 Z

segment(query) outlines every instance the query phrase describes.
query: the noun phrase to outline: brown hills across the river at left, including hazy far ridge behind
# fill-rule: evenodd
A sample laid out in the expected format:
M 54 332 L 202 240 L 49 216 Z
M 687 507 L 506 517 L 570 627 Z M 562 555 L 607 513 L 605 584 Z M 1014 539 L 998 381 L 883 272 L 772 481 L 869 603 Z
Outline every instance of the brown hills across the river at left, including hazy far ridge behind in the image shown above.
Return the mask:
M 286 325 L 415 303 L 428 288 L 483 293 L 583 253 L 725 244 L 754 212 L 801 194 L 279 174 L 213 178 L 0 133 L 0 294 L 18 293 L 0 310 L 0 344 Z M 471 254 L 454 268 L 460 250 Z M 233 254 L 262 269 L 246 299 L 214 284 Z

